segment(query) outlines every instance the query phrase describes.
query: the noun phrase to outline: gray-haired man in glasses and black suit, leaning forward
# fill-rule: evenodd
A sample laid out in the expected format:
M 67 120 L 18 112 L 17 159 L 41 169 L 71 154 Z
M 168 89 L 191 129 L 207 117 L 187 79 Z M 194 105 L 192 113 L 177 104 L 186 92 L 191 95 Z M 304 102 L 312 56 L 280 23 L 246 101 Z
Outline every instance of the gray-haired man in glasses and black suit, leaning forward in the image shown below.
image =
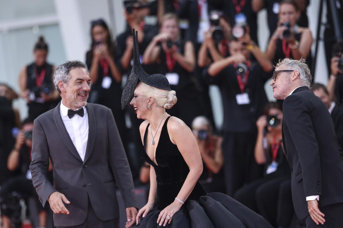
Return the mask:
M 273 97 L 283 99 L 283 144 L 291 166 L 292 198 L 308 228 L 343 226 L 343 161 L 327 107 L 309 90 L 305 59 L 275 68 Z M 317 224 L 317 225 L 316 225 Z

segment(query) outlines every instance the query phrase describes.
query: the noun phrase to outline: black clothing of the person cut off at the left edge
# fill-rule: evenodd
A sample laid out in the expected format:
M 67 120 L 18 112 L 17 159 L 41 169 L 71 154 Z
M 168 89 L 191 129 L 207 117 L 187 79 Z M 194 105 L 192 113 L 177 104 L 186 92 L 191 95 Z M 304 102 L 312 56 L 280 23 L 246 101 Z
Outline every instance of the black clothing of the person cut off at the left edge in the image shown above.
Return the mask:
M 15 127 L 15 115 L 12 102 L 0 96 L 0 186 L 15 172 L 7 169 L 7 158 L 15 144 L 12 129 Z

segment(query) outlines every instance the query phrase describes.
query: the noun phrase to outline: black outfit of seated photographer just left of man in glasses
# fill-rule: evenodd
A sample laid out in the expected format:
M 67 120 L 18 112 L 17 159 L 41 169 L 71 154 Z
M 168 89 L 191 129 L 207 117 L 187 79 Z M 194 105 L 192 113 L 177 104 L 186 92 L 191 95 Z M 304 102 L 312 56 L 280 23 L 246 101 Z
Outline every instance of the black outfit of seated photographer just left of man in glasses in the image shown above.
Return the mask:
M 291 169 L 281 144 L 282 141 L 274 142 L 268 152 L 266 151 L 267 162 L 264 164 L 263 178 L 240 188 L 234 197 L 240 203 L 263 216 L 274 227 L 276 227 L 280 185 L 285 180 L 291 179 Z

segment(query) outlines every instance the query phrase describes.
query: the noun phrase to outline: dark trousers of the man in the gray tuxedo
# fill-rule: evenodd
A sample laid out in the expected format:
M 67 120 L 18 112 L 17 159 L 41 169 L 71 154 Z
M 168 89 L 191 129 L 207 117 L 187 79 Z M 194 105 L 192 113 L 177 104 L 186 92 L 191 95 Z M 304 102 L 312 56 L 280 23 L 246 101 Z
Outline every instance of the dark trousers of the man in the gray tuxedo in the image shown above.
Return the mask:
M 56 228 L 119 228 L 119 218 L 115 218 L 108 221 L 100 220 L 98 216 L 96 216 L 91 201 L 88 198 L 88 212 L 86 220 L 83 224 L 78 226 Z

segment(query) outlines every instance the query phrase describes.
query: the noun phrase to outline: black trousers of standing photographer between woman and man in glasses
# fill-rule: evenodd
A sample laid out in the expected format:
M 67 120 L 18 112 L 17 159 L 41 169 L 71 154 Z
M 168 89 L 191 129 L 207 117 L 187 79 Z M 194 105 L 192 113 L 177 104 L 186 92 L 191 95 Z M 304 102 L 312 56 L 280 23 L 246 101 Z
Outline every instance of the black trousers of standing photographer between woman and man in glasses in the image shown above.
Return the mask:
M 263 166 L 254 157 L 256 132 L 225 132 L 223 137 L 226 194 L 233 197 L 244 184 L 262 177 Z

